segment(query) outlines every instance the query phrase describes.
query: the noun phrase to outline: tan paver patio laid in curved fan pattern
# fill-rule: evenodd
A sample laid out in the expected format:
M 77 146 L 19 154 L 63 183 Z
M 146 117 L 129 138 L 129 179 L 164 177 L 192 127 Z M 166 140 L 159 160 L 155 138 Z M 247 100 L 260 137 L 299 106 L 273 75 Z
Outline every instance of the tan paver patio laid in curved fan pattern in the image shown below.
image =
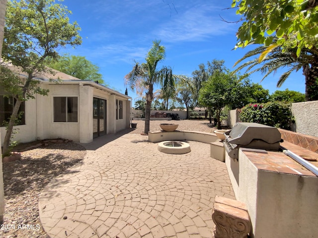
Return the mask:
M 53 179 L 39 198 L 54 238 L 213 238 L 216 195 L 235 199 L 225 163 L 210 145 L 169 155 L 138 134 L 83 144 L 83 163 Z

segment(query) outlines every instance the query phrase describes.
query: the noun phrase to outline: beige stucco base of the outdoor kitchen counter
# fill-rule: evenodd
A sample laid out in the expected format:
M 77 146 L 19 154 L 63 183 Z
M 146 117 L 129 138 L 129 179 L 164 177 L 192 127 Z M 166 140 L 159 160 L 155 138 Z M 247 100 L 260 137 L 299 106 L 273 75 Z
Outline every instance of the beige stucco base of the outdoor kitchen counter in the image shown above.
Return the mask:
M 241 151 L 234 168 L 239 168 L 239 182 L 237 172 L 229 171 L 230 179 L 237 199 L 247 206 L 252 237 L 317 237 L 318 177 L 257 170 Z

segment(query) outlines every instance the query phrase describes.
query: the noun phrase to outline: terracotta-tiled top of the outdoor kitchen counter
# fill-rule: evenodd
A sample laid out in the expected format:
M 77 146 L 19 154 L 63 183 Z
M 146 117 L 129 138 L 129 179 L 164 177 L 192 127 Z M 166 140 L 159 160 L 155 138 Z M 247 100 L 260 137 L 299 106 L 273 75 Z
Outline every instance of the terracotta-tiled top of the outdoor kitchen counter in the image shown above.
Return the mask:
M 294 152 L 295 154 L 301 157 L 307 157 L 318 160 L 318 154 L 307 149 L 304 149 L 300 146 L 294 145 L 290 142 L 281 143 L 283 147 Z M 251 163 L 258 170 L 273 171 L 278 173 L 294 174 L 294 175 L 304 175 L 304 176 L 314 176 L 311 171 L 306 169 L 304 166 L 285 155 L 283 152 L 278 151 L 267 151 L 267 153 L 259 153 L 252 151 L 245 151 L 244 148 L 241 148 L 242 152 L 246 155 Z M 318 166 L 318 162 L 312 162 L 315 166 Z

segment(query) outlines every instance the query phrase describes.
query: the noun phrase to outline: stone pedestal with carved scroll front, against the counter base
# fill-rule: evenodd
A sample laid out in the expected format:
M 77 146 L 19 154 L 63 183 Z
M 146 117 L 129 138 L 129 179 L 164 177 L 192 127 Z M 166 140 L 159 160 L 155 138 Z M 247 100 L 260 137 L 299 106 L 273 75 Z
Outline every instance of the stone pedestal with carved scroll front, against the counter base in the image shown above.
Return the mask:
M 244 203 L 216 196 L 213 209 L 215 238 L 247 238 L 251 223 Z

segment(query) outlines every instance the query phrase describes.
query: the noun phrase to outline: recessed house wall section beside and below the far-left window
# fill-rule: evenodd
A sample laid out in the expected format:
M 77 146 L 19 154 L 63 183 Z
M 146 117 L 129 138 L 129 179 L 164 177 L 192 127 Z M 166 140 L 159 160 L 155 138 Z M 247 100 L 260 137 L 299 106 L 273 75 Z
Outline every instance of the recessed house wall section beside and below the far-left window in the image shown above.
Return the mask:
M 36 123 L 36 100 L 29 99 L 25 102 L 25 124 L 13 127 L 13 129 L 17 132 L 13 135 L 13 140 L 18 141 L 19 143 L 36 140 Z M 3 145 L 6 129 L 2 126 L 0 127 L 0 130 L 1 145 Z

